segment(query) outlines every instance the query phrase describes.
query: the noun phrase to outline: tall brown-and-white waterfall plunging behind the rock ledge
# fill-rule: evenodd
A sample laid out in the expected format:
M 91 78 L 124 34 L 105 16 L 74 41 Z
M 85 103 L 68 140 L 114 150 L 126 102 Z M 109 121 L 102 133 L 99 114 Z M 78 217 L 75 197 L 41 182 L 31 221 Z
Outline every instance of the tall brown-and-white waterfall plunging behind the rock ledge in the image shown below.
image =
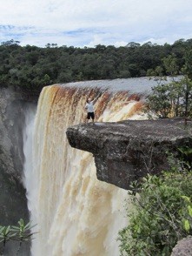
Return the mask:
M 30 216 L 37 233 L 33 256 L 118 256 L 118 231 L 127 224 L 127 191 L 96 179 L 94 158 L 71 148 L 70 125 L 83 123 L 84 105 L 99 95 L 96 121 L 140 117 L 142 101 L 120 91 L 51 85 L 38 100 L 32 152 L 26 157 L 25 184 Z M 32 166 L 32 168 L 31 168 Z

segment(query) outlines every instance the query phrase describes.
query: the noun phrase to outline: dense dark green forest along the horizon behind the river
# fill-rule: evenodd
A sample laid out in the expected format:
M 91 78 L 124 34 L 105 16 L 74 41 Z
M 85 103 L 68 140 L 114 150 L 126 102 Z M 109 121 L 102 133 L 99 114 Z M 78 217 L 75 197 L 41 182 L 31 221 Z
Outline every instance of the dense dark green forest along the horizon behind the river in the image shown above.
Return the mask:
M 192 49 L 192 39 L 179 39 L 174 44 L 138 44 L 115 47 L 98 44 L 94 48 L 46 44 L 21 46 L 13 39 L 0 45 L 0 85 L 14 86 L 23 91 L 39 92 L 48 84 L 83 80 L 146 77 L 162 59 L 176 58 L 181 74 L 183 56 Z M 162 68 L 162 75 L 170 75 Z

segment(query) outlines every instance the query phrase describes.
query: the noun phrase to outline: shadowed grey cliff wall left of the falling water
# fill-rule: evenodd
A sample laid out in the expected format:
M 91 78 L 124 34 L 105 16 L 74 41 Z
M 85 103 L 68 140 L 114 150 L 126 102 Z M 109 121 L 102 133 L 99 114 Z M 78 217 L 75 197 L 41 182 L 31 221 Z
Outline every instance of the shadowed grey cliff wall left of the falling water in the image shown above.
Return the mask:
M 23 125 L 29 98 L 20 92 L 0 90 L 0 225 L 16 225 L 19 219 L 29 221 L 25 188 L 23 187 Z M 35 103 L 30 103 L 35 104 Z M 6 246 L 6 255 L 16 252 L 14 243 Z M 1 250 L 0 250 L 1 252 Z M 23 254 L 30 255 L 24 245 Z

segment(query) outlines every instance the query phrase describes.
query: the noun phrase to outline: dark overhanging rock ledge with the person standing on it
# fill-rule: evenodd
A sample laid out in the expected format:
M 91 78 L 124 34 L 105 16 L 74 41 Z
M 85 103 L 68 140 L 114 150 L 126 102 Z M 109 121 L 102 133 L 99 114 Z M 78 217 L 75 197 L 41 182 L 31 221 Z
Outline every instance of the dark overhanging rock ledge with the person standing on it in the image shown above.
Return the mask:
M 192 146 L 192 122 L 181 118 L 127 120 L 69 127 L 72 147 L 91 152 L 97 179 L 129 189 L 131 181 L 169 168 L 166 152 Z

